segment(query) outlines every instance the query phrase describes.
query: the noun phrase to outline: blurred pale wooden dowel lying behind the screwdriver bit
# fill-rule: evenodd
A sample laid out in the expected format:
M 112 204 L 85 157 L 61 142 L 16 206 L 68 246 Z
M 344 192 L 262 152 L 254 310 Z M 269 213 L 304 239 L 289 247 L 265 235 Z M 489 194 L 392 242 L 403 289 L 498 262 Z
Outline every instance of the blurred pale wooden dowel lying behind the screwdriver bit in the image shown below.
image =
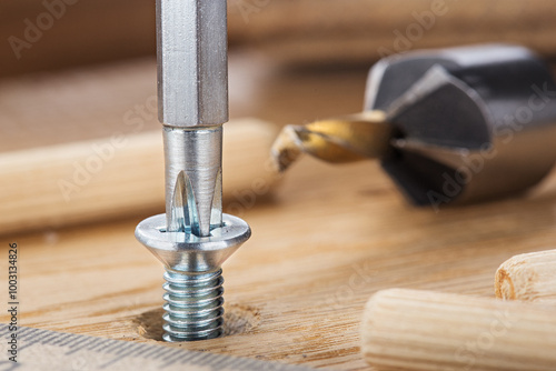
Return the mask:
M 270 191 L 275 174 L 266 160 L 276 134 L 275 126 L 258 120 L 226 124 L 222 177 L 230 212 L 245 212 Z M 0 233 L 163 212 L 162 136 L 1 153 L 0 177 Z

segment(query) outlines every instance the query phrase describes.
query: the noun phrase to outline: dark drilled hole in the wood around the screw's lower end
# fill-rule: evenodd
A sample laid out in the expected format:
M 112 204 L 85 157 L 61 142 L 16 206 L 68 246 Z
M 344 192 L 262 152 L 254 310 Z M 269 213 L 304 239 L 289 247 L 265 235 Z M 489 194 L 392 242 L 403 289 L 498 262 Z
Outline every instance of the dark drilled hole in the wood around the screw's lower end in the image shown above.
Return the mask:
M 224 337 L 246 333 L 260 322 L 260 313 L 256 308 L 241 304 L 225 304 Z M 162 308 L 145 312 L 135 319 L 137 332 L 146 338 L 162 341 Z

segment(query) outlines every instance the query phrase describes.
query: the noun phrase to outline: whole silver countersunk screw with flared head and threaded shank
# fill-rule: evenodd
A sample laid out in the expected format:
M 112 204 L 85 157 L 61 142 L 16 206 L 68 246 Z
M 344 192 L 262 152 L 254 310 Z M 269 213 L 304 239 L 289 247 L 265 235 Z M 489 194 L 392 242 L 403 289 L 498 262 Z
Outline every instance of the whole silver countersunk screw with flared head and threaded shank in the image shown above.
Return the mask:
M 137 225 L 137 239 L 166 267 L 166 341 L 207 340 L 222 334 L 220 267 L 250 235 L 245 221 L 228 214 L 222 214 L 222 225 L 208 237 L 167 232 L 166 214 Z

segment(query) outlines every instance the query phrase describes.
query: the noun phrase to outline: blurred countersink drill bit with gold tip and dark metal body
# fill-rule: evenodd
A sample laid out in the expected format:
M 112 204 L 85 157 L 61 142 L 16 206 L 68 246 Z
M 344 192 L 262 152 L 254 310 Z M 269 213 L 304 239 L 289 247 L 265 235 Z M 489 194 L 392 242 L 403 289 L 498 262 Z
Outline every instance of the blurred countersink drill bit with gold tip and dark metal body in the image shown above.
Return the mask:
M 379 158 L 410 201 L 436 209 L 522 192 L 556 161 L 556 83 L 525 48 L 490 44 L 386 58 L 370 71 L 365 111 L 378 118 L 380 112 L 390 128 L 377 130 L 380 119 L 369 122 L 364 141 L 370 154 L 360 150 L 365 127 L 337 137 L 330 122 L 320 121 L 296 128 L 287 144 L 284 137 L 277 140 L 278 170 L 291 162 L 282 160 L 290 147 L 330 161 L 340 146 L 354 160 Z M 309 143 L 315 136 L 321 140 Z

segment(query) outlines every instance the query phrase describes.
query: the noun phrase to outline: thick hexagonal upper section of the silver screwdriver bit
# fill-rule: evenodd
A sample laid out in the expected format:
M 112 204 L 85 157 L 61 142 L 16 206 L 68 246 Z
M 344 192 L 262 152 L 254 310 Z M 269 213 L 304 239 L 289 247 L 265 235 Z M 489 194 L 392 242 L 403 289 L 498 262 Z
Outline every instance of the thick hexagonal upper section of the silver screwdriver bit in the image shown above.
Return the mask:
M 228 121 L 227 34 L 226 0 L 157 0 L 160 122 Z

